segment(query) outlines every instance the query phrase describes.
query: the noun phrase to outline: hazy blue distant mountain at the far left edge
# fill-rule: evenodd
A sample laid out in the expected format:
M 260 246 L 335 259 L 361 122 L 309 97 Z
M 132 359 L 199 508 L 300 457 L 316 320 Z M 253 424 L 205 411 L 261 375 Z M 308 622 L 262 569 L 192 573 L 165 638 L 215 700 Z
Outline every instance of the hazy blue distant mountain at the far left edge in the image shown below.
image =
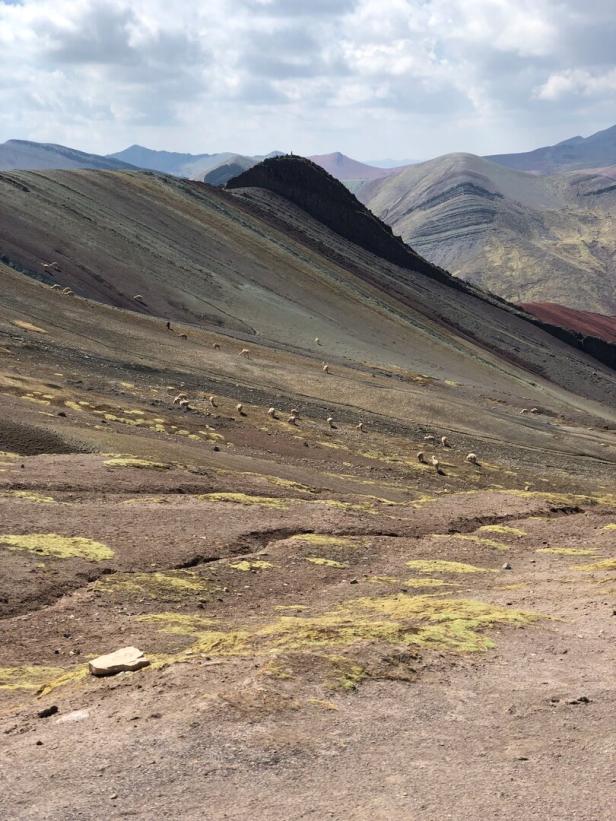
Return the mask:
M 133 165 L 98 154 L 87 154 L 53 143 L 8 140 L 0 145 L 0 171 L 47 170 L 52 168 L 98 168 L 110 171 L 134 169 Z

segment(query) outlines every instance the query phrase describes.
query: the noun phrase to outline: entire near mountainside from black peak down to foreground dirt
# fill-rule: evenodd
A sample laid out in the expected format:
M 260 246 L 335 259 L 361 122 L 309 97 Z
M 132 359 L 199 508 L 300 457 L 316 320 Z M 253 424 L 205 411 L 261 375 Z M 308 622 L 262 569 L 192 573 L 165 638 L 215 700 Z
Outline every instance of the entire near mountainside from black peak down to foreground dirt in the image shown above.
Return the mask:
M 616 372 L 239 182 L 0 179 L 3 814 L 607 821 Z

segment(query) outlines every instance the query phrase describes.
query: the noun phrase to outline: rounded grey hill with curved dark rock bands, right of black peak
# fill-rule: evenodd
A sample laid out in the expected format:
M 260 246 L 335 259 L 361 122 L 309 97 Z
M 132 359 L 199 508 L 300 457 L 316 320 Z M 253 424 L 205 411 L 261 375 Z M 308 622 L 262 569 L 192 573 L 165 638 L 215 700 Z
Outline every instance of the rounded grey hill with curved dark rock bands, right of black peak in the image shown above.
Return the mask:
M 419 253 L 505 299 L 616 312 L 610 176 L 537 176 L 449 154 L 358 196 Z

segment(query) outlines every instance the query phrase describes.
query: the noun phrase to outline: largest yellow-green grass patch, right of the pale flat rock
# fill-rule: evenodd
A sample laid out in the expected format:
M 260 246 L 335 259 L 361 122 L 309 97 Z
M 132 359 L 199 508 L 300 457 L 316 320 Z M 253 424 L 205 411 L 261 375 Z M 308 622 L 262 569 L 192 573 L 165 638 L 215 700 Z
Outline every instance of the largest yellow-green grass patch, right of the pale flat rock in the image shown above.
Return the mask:
M 215 629 L 217 622 L 201 616 L 159 613 L 139 617 L 165 633 L 186 636 L 190 646 L 162 663 L 182 661 L 194 655 L 256 656 L 281 653 L 327 653 L 352 650 L 362 645 L 419 646 L 456 652 L 476 652 L 493 646 L 482 631 L 496 624 L 521 626 L 540 618 L 536 614 L 466 599 L 434 596 L 386 596 L 352 599 L 318 616 L 279 616 L 258 627 Z M 352 688 L 365 677 L 356 659 L 335 656 L 337 686 Z

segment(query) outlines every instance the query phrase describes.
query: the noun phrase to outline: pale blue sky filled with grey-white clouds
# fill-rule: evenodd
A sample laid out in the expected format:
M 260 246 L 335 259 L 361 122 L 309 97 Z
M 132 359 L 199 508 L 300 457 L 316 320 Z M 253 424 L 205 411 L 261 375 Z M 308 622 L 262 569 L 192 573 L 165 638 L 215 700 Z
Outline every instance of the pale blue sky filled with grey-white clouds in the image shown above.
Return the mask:
M 614 0 L 0 0 L 0 142 L 523 151 L 616 123 Z

